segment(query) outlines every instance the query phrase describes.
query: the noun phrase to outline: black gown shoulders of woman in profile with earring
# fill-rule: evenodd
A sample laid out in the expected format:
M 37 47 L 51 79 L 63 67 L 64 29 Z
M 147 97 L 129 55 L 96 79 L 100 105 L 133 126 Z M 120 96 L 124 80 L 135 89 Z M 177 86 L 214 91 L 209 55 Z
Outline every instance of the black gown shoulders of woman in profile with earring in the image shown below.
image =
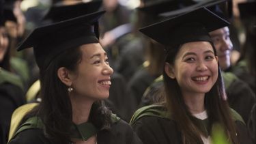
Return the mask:
M 18 133 L 8 144 L 51 144 L 46 139 L 42 129 L 27 129 Z M 97 144 L 142 144 L 141 140 L 135 134 L 125 121 L 115 122 L 110 130 L 100 130 L 97 133 Z

